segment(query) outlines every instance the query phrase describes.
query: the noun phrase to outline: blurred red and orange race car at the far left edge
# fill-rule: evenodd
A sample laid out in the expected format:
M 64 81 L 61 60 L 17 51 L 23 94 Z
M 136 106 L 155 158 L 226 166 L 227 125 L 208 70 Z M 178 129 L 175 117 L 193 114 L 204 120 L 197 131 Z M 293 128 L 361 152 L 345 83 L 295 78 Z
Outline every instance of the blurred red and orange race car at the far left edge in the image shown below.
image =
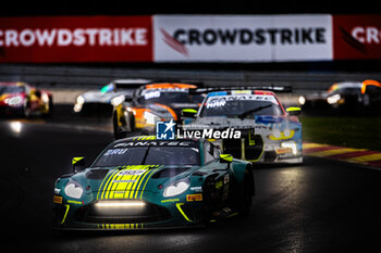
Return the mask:
M 24 81 L 0 83 L 0 115 L 49 116 L 52 110 L 52 96 Z

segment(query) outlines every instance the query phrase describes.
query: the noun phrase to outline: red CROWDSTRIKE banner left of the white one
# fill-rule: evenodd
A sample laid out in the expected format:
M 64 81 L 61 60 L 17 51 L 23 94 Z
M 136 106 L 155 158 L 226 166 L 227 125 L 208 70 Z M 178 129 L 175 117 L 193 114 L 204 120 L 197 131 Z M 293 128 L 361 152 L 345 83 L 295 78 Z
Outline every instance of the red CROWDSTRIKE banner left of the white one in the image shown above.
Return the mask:
M 151 16 L 0 17 L 0 62 L 151 62 Z

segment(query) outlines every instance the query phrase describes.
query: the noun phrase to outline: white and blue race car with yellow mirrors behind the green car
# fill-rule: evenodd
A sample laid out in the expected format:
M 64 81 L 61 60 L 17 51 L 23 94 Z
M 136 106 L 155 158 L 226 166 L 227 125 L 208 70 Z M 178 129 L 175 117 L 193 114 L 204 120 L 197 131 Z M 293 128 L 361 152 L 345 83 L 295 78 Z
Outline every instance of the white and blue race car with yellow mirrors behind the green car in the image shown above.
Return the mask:
M 184 110 L 183 130 L 239 130 L 239 138 L 212 138 L 212 141 L 223 153 L 236 159 L 261 163 L 302 163 L 299 113 L 299 107 L 284 110 L 272 91 L 214 91 L 207 94 L 198 112 Z

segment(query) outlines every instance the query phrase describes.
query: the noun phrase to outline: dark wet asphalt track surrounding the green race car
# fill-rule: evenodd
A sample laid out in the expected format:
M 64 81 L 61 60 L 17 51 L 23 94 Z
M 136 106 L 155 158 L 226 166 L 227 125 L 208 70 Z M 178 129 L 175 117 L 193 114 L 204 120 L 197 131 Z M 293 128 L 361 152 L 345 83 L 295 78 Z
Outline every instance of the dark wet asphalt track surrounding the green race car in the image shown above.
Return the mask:
M 70 122 L 0 121 L 1 252 L 380 252 L 381 172 L 305 157 L 302 166 L 256 166 L 248 218 L 207 228 L 58 233 L 54 180 L 71 157 L 90 163 L 112 140 Z

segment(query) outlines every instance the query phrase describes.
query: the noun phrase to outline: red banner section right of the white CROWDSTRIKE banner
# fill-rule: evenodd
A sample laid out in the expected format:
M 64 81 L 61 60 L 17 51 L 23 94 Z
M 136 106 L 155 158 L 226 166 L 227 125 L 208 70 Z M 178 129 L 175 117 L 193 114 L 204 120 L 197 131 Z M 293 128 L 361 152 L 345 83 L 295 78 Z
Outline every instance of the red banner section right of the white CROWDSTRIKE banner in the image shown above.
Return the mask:
M 381 15 L 334 15 L 334 60 L 381 59 Z

